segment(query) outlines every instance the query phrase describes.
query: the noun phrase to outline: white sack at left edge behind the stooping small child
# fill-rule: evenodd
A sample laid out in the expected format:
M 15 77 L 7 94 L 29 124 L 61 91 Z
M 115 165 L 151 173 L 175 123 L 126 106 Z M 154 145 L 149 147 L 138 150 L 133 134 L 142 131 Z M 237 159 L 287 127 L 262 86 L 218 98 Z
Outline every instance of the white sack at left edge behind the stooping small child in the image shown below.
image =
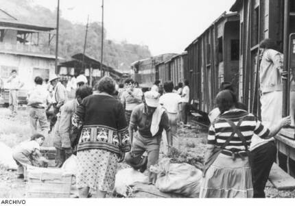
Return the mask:
M 3 142 L 0 142 L 0 166 L 7 170 L 17 169 L 16 162 L 12 158 L 12 149 Z

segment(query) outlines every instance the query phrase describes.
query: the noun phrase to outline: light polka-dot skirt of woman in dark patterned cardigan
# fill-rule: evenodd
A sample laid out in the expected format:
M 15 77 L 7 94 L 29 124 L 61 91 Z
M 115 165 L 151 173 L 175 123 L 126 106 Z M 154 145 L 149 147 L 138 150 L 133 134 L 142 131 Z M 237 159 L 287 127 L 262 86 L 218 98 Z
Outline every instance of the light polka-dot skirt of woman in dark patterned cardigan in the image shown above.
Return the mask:
M 77 188 L 113 192 L 117 155 L 102 149 L 78 151 Z

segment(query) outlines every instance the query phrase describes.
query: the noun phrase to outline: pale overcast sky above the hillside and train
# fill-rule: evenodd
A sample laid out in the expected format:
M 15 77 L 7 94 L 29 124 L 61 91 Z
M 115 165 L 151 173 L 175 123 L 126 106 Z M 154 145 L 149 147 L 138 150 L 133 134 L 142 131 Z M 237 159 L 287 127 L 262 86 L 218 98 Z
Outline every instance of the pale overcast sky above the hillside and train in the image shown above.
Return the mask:
M 54 10 L 57 0 L 31 0 Z M 104 0 L 106 38 L 147 45 L 152 55 L 181 53 L 235 0 Z M 102 21 L 102 0 L 60 0 L 73 23 Z

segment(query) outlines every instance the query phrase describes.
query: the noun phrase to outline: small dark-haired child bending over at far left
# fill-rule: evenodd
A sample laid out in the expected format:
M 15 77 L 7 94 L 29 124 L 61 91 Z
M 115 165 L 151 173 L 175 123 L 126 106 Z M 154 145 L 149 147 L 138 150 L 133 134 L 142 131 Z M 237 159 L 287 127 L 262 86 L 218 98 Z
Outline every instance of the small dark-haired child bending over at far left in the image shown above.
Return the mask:
M 12 157 L 18 165 L 18 178 L 23 179 L 23 166 L 45 166 L 47 159 L 41 156 L 40 146 L 43 144 L 45 137 L 40 133 L 35 133 L 30 140 L 21 142 L 16 145 L 12 152 Z

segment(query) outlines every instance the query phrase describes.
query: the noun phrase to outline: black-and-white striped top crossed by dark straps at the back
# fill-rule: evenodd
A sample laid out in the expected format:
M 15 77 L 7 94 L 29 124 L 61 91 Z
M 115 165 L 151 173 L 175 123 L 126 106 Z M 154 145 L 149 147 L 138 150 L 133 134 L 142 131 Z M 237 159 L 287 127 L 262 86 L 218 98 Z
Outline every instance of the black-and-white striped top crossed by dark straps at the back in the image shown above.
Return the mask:
M 233 133 L 233 128 L 229 125 L 226 120 L 231 120 L 235 125 L 238 124 L 239 120 L 243 118 L 241 125 L 237 128 L 243 134 L 246 144 L 249 147 L 253 134 L 257 134 L 260 138 L 266 139 L 270 133 L 269 129 L 264 127 L 259 120 L 253 115 L 249 114 L 244 110 L 231 110 L 224 112 L 220 115 L 209 128 L 208 143 L 215 146 L 222 146 L 226 142 L 226 139 Z M 233 136 L 228 146 L 225 147 L 227 150 L 246 150 L 243 142 L 237 136 L 237 133 Z

